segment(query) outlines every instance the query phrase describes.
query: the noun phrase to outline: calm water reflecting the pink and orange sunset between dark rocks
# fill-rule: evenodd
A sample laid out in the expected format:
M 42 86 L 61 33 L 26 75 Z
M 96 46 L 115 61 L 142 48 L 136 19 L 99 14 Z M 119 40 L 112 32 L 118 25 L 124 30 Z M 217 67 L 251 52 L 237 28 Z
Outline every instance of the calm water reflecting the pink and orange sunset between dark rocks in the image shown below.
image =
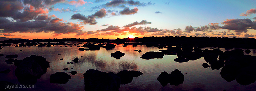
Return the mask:
M 82 43 L 83 45 L 84 43 Z M 62 45 L 63 46 L 63 45 Z M 15 88 L 9 91 L 17 90 L 29 90 L 29 91 L 49 91 L 49 90 L 64 90 L 64 91 L 84 91 L 84 78 L 83 74 L 88 69 L 98 69 L 104 72 L 117 73 L 121 70 L 137 70 L 143 72 L 137 78 L 133 78 L 133 81 L 129 84 L 120 86 L 120 91 L 252 91 L 256 90 L 256 84 L 240 85 L 236 81 L 227 82 L 221 75 L 219 70 L 212 70 L 211 68 L 203 68 L 202 64 L 206 62 L 203 57 L 189 62 L 178 63 L 174 59 L 176 55 L 165 55 L 163 59 L 150 59 L 145 60 L 140 58 L 142 54 L 148 51 L 159 51 L 155 47 L 146 47 L 139 45 L 138 47 L 122 47 L 122 45 L 116 45 L 112 50 L 106 50 L 101 48 L 94 51 L 79 51 L 79 47 L 60 47 L 55 45 L 54 47 L 3 47 L 0 54 L 18 54 L 19 60 L 24 59 L 32 54 L 43 56 L 50 62 L 50 68 L 47 68 L 46 74 L 42 75 L 40 79 L 37 79 L 36 88 Z M 206 48 L 203 48 L 203 50 Z M 207 48 L 209 49 L 209 48 Z M 23 51 L 20 51 L 23 50 Z M 142 50 L 141 53 L 134 50 Z M 229 50 L 221 48 L 222 51 Z M 121 51 L 125 53 L 125 56 L 121 59 L 115 59 L 110 54 L 115 51 Z M 250 55 L 256 55 L 256 50 L 251 50 Z M 58 55 L 61 54 L 61 55 Z M 9 81 L 14 84 L 20 84 L 17 77 L 14 75 L 16 67 L 14 64 L 8 65 L 4 61 L 7 60 L 5 56 L 0 57 L 0 71 L 5 69 L 11 69 L 8 74 L 0 73 L 0 81 Z M 81 56 L 83 56 L 81 58 Z M 72 62 L 73 59 L 79 57 L 79 63 L 67 64 Z M 63 60 L 60 60 L 63 58 Z M 69 70 L 64 71 L 64 68 Z M 73 69 L 71 69 L 73 68 Z M 184 74 L 184 82 L 178 86 L 162 85 L 156 80 L 161 72 L 166 71 L 171 73 L 173 70 L 179 69 Z M 71 75 L 72 70 L 77 71 L 76 75 Z M 71 75 L 71 79 L 66 84 L 53 84 L 50 83 L 50 75 L 56 72 L 66 72 Z M 187 72 L 187 74 L 185 74 Z

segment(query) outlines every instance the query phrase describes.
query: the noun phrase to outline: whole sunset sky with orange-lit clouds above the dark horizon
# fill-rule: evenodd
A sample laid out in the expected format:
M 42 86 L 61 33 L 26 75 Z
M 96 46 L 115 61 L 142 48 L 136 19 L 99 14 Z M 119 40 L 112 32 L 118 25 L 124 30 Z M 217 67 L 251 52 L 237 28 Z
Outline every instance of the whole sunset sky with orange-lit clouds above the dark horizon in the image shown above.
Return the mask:
M 0 37 L 256 38 L 256 0 L 0 0 Z

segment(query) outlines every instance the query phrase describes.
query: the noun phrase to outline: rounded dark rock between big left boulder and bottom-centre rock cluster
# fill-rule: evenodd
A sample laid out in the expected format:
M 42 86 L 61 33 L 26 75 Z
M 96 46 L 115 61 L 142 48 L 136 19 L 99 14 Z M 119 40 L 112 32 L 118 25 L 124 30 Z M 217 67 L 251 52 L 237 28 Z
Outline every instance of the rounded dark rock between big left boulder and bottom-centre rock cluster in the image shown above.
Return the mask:
M 56 72 L 50 75 L 50 83 L 66 84 L 71 76 L 65 72 Z

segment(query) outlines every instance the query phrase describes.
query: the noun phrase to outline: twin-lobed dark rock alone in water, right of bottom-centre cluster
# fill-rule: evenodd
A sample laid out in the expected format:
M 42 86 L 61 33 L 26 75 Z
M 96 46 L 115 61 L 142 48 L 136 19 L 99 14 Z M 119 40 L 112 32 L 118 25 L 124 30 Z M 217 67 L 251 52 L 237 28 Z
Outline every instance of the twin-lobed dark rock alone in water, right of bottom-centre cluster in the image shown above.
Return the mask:
M 161 72 L 161 74 L 157 77 L 157 81 L 159 81 L 163 87 L 165 87 L 168 83 L 170 83 L 170 85 L 177 86 L 183 84 L 184 75 L 178 69 L 175 69 L 170 74 L 167 72 Z

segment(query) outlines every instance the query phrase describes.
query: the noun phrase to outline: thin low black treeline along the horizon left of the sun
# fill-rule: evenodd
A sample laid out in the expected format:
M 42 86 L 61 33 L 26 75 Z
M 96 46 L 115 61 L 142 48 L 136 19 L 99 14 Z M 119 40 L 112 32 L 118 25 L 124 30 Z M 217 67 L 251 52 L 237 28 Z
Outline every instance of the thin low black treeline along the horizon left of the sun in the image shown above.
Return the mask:
M 80 38 L 62 38 L 62 39 L 33 39 L 33 40 L 28 40 L 28 39 L 19 39 L 19 40 L 5 40 L 5 41 L 0 41 L 0 43 L 23 43 L 23 42 L 64 42 L 64 41 L 70 41 L 70 42 L 97 42 L 97 43 L 108 43 L 110 42 L 109 39 L 99 39 L 99 38 L 88 38 L 88 39 L 80 39 Z

